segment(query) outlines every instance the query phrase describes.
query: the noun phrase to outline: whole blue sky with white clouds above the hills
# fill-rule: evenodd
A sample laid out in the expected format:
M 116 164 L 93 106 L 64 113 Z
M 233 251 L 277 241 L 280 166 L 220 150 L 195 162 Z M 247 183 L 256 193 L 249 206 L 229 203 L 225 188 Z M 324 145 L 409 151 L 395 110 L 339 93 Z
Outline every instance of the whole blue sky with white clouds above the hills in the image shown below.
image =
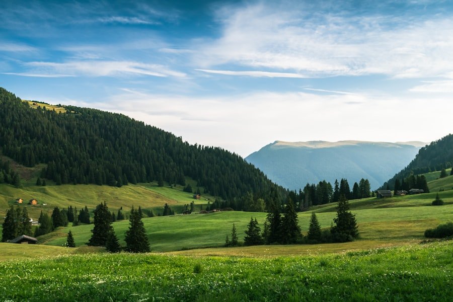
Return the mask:
M 243 157 L 451 133 L 452 1 L 0 1 L 0 87 Z

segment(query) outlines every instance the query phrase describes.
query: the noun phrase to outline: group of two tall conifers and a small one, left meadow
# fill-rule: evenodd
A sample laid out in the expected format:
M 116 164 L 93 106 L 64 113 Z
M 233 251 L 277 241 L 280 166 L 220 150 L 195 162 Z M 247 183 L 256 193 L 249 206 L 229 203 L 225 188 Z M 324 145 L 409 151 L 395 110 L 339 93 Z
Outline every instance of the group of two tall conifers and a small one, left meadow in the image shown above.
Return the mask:
M 125 234 L 126 247 L 125 251 L 131 253 L 149 252 L 149 242 L 146 236 L 143 222 L 141 221 L 142 213 L 132 207 L 129 215 L 130 226 Z M 112 215 L 107 204 L 100 203 L 94 210 L 93 218 L 94 228 L 91 231 L 93 235 L 88 241 L 89 246 L 105 246 L 109 252 L 116 253 L 121 250 L 118 238 L 112 227 Z M 68 235 L 69 236 L 69 235 Z

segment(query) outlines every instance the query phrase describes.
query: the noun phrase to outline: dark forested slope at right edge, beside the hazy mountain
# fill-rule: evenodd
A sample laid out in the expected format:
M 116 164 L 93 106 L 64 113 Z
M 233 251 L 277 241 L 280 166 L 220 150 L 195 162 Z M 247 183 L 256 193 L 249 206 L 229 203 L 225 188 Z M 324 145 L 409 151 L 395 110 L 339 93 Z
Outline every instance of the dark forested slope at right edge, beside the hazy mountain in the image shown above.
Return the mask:
M 411 174 L 417 175 L 431 171 L 440 171 L 451 167 L 452 164 L 453 135 L 448 134 L 422 147 L 415 156 L 415 159 L 406 168 L 385 182 L 381 188 L 385 189 L 388 186 L 393 190 L 397 179 L 404 180 Z

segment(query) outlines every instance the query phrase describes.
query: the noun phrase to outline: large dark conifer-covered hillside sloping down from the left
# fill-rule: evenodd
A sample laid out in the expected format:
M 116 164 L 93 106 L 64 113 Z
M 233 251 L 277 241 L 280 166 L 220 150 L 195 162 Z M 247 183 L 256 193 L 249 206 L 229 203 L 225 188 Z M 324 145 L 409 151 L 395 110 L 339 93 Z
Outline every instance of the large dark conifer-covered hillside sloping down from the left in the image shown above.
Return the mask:
M 233 200 L 286 191 L 241 157 L 121 114 L 64 106 L 65 113 L 33 109 L 0 88 L 0 151 L 20 164 L 47 164 L 42 178 L 58 184 L 122 186 L 158 181 L 185 185 L 185 176 L 214 196 Z M 272 194 L 270 192 L 273 191 Z M 276 194 L 277 193 L 277 194 Z M 278 197 L 277 197 L 278 196 Z

